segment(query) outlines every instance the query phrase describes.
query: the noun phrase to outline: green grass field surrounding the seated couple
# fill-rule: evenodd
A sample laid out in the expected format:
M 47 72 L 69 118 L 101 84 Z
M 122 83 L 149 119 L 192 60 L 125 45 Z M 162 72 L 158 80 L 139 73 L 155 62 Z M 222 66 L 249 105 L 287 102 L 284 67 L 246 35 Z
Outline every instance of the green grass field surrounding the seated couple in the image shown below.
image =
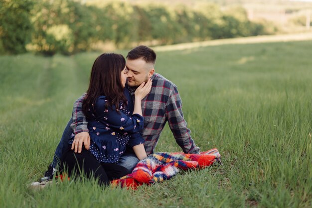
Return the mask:
M 51 162 L 99 53 L 0 56 L 1 208 L 312 207 L 312 41 L 158 51 L 192 137 L 223 165 L 137 191 L 95 181 L 29 190 Z M 120 51 L 124 55 L 127 51 Z M 156 151 L 180 151 L 170 130 Z

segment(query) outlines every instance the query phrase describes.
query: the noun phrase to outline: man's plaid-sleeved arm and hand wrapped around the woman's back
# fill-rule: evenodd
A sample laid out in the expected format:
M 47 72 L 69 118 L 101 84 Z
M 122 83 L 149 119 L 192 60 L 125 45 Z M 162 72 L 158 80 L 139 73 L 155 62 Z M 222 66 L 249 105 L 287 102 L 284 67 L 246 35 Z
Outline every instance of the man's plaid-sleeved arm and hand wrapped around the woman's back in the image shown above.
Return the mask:
M 90 135 L 88 130 L 88 122 L 83 114 L 82 103 L 86 94 L 83 94 L 76 102 L 74 103 L 73 112 L 72 112 L 72 120 L 73 123 L 70 127 L 73 129 L 75 133 L 75 139 L 71 146 L 71 149 L 75 149 L 75 152 L 81 153 L 82 145 L 89 150 L 90 148 Z

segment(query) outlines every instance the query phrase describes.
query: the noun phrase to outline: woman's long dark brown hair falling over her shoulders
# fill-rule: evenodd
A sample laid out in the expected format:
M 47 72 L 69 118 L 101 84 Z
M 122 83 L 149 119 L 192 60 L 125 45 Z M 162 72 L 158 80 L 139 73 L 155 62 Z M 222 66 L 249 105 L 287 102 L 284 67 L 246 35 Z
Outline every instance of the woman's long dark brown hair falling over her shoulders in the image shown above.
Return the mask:
M 82 104 L 86 116 L 100 95 L 107 97 L 106 108 L 115 106 L 118 111 L 119 102 L 126 103 L 124 86 L 121 82 L 121 71 L 125 66 L 126 60 L 121 54 L 103 53 L 97 57 L 92 66 L 87 96 Z

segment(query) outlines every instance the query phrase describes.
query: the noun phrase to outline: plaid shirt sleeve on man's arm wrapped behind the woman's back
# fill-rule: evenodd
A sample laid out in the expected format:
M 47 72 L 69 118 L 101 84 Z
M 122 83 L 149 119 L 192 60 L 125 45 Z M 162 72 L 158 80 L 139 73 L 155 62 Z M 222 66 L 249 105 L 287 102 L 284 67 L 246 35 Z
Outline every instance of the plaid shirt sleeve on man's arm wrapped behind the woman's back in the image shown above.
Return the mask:
M 86 93 L 83 94 L 76 102 L 74 103 L 73 112 L 72 112 L 72 120 L 73 123 L 70 127 L 73 129 L 75 134 L 81 132 L 89 132 L 88 130 L 88 122 L 87 118 L 83 114 L 82 110 L 82 102 L 86 96 Z

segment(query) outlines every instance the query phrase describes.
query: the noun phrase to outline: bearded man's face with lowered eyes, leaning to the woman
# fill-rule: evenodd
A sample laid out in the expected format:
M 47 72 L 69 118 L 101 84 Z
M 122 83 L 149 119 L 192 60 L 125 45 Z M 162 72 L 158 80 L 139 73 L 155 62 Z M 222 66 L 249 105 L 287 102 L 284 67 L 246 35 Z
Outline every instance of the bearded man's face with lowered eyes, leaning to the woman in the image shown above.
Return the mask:
M 147 82 L 148 78 L 154 74 L 154 65 L 147 63 L 142 58 L 126 61 L 128 70 L 128 86 L 138 87 L 142 82 Z

